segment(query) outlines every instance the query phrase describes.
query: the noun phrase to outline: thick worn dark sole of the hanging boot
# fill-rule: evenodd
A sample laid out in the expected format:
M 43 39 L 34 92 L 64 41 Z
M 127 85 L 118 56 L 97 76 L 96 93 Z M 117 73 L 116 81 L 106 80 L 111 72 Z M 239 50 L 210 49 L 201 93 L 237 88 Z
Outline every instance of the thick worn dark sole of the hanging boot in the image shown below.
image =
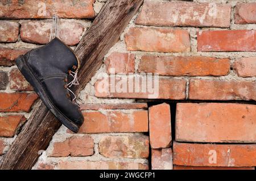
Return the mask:
M 77 133 L 79 131 L 79 126 L 73 123 L 67 116 L 65 116 L 58 108 L 52 103 L 51 99 L 49 98 L 46 90 L 44 89 L 42 83 L 40 83 L 38 77 L 35 76 L 33 70 L 27 64 L 26 60 L 23 55 L 16 58 L 15 62 L 18 66 L 21 73 L 27 79 L 27 81 L 34 87 L 34 91 L 39 95 L 40 99 L 46 105 L 46 107 L 56 116 L 56 118 L 65 125 L 68 129 L 72 132 Z

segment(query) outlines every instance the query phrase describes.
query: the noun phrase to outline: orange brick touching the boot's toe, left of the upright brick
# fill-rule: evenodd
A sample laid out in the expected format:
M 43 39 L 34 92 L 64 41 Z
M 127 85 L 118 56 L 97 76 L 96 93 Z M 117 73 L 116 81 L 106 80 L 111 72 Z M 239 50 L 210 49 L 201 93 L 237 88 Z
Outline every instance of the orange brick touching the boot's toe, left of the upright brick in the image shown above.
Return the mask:
M 84 124 L 79 133 L 148 132 L 146 110 L 123 112 L 83 112 Z

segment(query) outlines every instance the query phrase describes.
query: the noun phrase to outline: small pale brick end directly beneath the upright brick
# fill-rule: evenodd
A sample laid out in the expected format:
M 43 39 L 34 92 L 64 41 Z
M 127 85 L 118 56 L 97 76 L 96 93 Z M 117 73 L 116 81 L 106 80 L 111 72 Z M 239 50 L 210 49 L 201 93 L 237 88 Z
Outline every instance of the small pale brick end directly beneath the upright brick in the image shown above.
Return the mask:
M 152 149 L 151 167 L 152 170 L 172 170 L 172 149 Z

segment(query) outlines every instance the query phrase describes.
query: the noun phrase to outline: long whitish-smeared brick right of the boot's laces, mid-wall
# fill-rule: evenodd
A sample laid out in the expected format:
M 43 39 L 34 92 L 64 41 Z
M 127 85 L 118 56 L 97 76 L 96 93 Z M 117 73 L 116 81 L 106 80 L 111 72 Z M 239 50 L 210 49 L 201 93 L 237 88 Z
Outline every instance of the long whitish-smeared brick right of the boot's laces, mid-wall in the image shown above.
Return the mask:
M 139 83 L 137 83 L 137 81 Z M 145 81 L 143 81 L 145 80 Z M 114 81 L 110 80 L 110 77 L 99 79 L 94 87 L 96 89 L 95 95 L 99 98 L 139 98 L 139 99 L 185 99 L 185 89 L 186 83 L 184 79 L 173 79 L 173 78 L 161 78 L 159 77 L 159 84 L 155 84 L 156 79 L 154 75 L 152 77 L 152 86 L 146 82 L 147 78 L 142 76 L 137 77 L 119 77 L 115 78 Z M 150 79 L 148 79 L 150 80 Z M 155 81 L 154 81 L 155 80 Z M 119 85 L 126 85 L 127 91 L 118 92 L 117 88 Z M 129 84 L 134 85 L 133 90 L 129 92 Z M 155 84 L 155 86 L 154 86 Z M 106 89 L 103 89 L 102 86 L 106 85 Z M 114 87 L 115 90 L 112 91 L 109 87 Z M 146 90 L 143 92 L 143 86 L 146 87 Z M 136 91 L 136 90 L 138 91 Z M 152 91 L 150 90 L 152 89 Z

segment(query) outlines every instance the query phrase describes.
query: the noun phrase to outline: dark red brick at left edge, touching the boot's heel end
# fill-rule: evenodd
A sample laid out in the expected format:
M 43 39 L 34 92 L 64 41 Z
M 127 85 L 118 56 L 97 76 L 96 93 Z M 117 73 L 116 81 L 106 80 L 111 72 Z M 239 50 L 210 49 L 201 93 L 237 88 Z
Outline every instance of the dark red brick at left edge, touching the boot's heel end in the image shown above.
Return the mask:
M 15 58 L 20 54 L 25 54 L 29 49 L 11 49 L 0 48 L 0 66 L 12 66 L 15 64 Z

